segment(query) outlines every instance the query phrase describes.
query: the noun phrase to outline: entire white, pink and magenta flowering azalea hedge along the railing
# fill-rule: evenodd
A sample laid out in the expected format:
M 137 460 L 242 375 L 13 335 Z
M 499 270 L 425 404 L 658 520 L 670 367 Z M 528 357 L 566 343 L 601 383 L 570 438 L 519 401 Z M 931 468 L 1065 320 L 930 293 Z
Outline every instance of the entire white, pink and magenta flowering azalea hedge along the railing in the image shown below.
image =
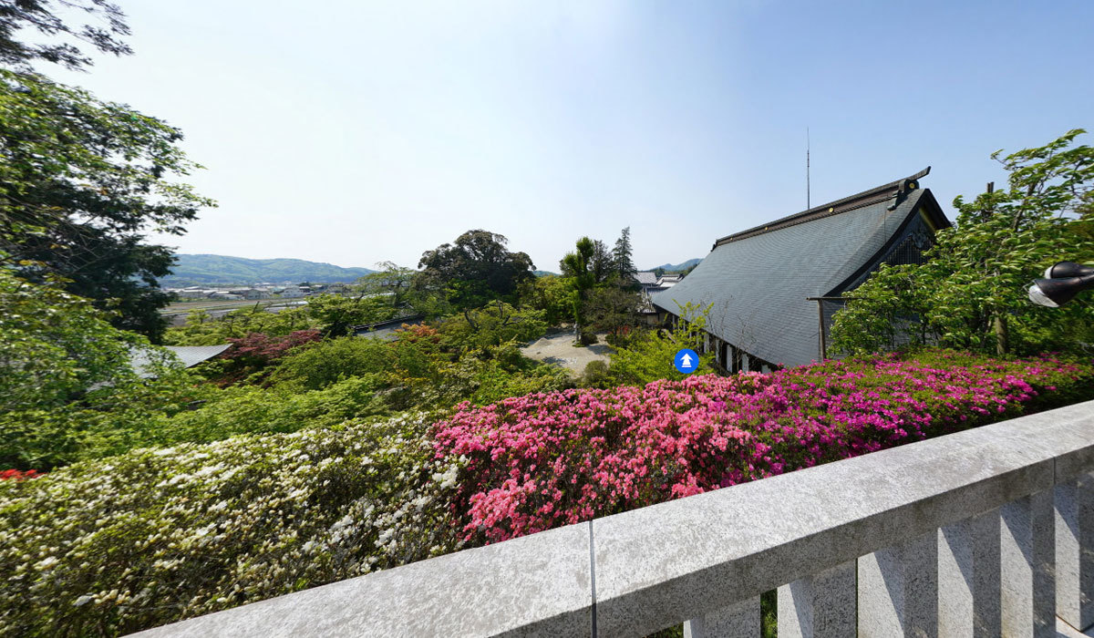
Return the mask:
M 0 635 L 135 631 L 1089 398 L 1089 363 L 936 352 L 135 450 L 0 480 Z

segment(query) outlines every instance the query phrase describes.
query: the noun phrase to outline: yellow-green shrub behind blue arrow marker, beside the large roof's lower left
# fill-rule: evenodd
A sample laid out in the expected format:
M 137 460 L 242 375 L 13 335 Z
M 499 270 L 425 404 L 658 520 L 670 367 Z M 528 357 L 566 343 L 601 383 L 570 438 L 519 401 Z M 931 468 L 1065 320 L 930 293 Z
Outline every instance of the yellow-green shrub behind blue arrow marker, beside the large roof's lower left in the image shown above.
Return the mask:
M 680 380 L 687 374 L 676 370 L 673 363 L 676 352 L 690 348 L 699 355 L 699 363 L 693 374 L 714 372 L 713 353 L 701 353 L 703 328 L 711 305 L 694 303 L 679 305 L 680 323 L 673 332 L 657 330 L 643 333 L 626 348 L 612 355 L 610 372 L 617 385 L 641 385 L 659 379 Z

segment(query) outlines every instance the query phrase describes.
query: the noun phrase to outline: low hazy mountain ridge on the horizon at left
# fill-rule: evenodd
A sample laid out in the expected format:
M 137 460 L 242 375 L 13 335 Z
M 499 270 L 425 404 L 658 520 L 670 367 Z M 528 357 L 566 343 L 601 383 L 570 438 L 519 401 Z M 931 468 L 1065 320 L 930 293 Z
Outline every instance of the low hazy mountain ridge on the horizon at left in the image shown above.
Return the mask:
M 247 259 L 224 255 L 175 255 L 172 274 L 160 280 L 168 288 L 225 283 L 334 283 L 354 281 L 375 272 L 369 268 L 342 268 L 304 259 Z

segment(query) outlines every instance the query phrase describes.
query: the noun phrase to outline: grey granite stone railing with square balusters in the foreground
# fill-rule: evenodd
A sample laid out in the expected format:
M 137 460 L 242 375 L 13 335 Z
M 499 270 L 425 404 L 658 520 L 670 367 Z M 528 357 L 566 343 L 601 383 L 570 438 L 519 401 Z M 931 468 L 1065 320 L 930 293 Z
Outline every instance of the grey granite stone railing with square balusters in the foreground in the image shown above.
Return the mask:
M 1094 402 L 142 636 L 1055 636 L 1094 624 Z M 1081 549 L 1085 549 L 1085 555 Z

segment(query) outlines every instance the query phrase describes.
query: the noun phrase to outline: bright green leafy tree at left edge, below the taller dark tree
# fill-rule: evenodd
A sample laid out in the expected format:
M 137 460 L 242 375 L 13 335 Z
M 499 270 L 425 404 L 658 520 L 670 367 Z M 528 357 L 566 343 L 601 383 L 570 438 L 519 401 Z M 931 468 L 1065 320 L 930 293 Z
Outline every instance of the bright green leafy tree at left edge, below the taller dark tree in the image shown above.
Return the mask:
M 0 467 L 47 469 L 148 443 L 199 393 L 171 352 L 119 330 L 59 282 L 0 268 Z M 142 379 L 131 363 L 144 352 Z

